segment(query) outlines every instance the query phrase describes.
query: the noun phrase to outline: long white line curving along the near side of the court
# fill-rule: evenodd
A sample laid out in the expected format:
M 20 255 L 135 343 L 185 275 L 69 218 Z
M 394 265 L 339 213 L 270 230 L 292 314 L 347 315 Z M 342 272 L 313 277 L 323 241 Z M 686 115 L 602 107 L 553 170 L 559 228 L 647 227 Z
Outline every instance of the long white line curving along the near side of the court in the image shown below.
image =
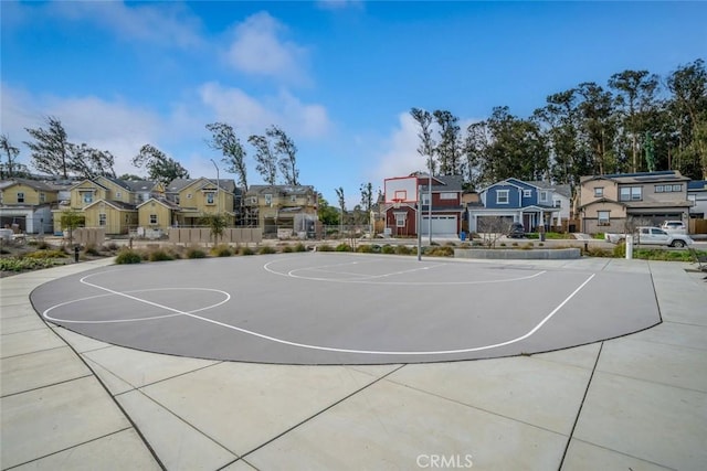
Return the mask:
M 262 334 L 262 333 L 258 333 L 258 332 L 254 332 L 254 331 L 250 331 L 250 330 L 246 330 L 246 329 L 238 328 L 235 325 L 226 324 L 225 322 L 220 322 L 220 321 L 215 321 L 213 319 L 208 319 L 208 318 L 204 318 L 204 317 L 201 317 L 201 315 L 197 315 L 197 314 L 193 313 L 193 312 L 197 312 L 197 311 L 193 311 L 193 312 L 180 311 L 178 309 L 173 309 L 173 308 L 170 308 L 168 306 L 162 306 L 162 304 L 159 304 L 157 302 L 152 302 L 152 301 L 148 301 L 148 300 L 145 300 L 145 299 L 140 299 L 140 298 L 137 298 L 135 296 L 130 296 L 130 295 L 125 293 L 125 292 L 115 291 L 115 290 L 112 290 L 109 288 L 105 288 L 105 287 L 102 287 L 99 285 L 95 285 L 95 283 L 91 283 L 91 282 L 86 281 L 86 278 L 89 278 L 89 277 L 95 276 L 95 275 L 99 275 L 99 274 L 93 274 L 93 275 L 86 276 L 86 277 L 81 279 L 81 282 L 84 283 L 84 285 L 92 286 L 92 287 L 97 288 L 97 289 L 102 289 L 102 290 L 107 291 L 107 292 L 109 292 L 112 295 L 122 296 L 122 297 L 125 297 L 125 298 L 128 298 L 128 299 L 131 299 L 131 300 L 135 300 L 135 301 L 138 301 L 138 302 L 144 302 L 144 303 L 149 304 L 149 306 L 154 306 L 154 307 L 157 307 L 157 308 L 161 308 L 161 309 L 171 311 L 175 314 L 187 315 L 187 317 L 190 317 L 192 319 L 198 319 L 198 320 L 201 320 L 201 321 L 214 324 L 214 325 L 220 325 L 220 327 L 223 327 L 225 329 L 231 329 L 231 330 L 234 330 L 234 331 L 238 331 L 238 332 L 241 332 L 241 333 L 253 335 L 253 336 L 256 336 L 256 338 L 260 338 L 260 339 L 263 339 L 263 340 L 268 340 L 271 342 L 279 343 L 279 344 L 283 344 L 283 345 L 296 346 L 296 347 L 300 347 L 300 349 L 317 350 L 317 351 L 326 351 L 326 352 L 356 353 L 356 354 L 368 354 L 368 355 L 446 355 L 446 354 L 469 353 L 469 352 L 479 352 L 479 351 L 484 351 L 484 350 L 497 349 L 499 346 L 510 345 L 510 344 L 520 342 L 520 341 L 529 338 L 530 335 L 536 333 L 540 328 L 542 328 L 542 325 L 545 325 L 550 319 L 552 319 L 552 317 L 555 314 L 557 314 L 557 312 L 559 312 L 559 310 L 562 309 L 562 307 L 564 304 L 567 304 L 582 288 L 584 288 L 587 286 L 587 283 L 589 283 L 594 278 L 594 276 L 597 274 L 592 274 L 589 278 L 587 278 L 587 280 L 584 280 L 584 282 L 582 282 L 567 298 L 564 298 L 564 300 L 557 308 L 555 308 L 552 310 L 552 312 L 550 312 L 548 315 L 546 315 L 535 328 L 532 328 L 529 332 L 527 332 L 524 335 L 520 335 L 518 338 L 508 340 L 506 342 L 495 343 L 495 344 L 492 344 L 492 345 L 475 346 L 475 347 L 469 347 L 469 349 L 423 351 L 423 352 L 336 349 L 336 347 L 331 347 L 331 346 L 321 346 L 321 345 L 313 345 L 313 344 L 307 344 L 307 343 L 291 342 L 291 341 L 287 341 L 287 340 L 284 340 L 284 339 L 278 339 L 278 338 L 275 338 L 275 336 L 265 335 L 265 334 Z M 214 291 L 219 291 L 219 290 L 214 290 Z M 221 291 L 221 292 L 224 292 L 224 291 Z M 230 296 L 229 296 L 229 299 L 230 299 Z M 223 302 L 225 302 L 225 301 L 223 301 Z M 221 302 L 221 303 L 223 303 L 223 302 Z M 53 309 L 53 308 L 50 308 L 46 311 L 44 311 L 44 313 L 42 315 L 44 315 L 51 309 Z M 170 314 L 170 315 L 175 315 L 175 314 Z

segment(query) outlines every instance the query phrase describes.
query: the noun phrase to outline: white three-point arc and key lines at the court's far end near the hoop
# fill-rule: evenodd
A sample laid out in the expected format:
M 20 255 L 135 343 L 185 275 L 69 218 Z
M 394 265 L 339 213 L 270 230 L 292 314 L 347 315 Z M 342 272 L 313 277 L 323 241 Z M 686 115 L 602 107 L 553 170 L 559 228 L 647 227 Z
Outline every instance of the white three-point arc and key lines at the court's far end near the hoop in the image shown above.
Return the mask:
M 415 272 L 415 271 L 423 271 L 423 270 L 429 270 L 431 268 L 437 268 L 437 267 L 443 267 L 446 266 L 449 264 L 436 264 L 436 265 L 428 265 L 424 267 L 419 267 L 419 268 L 413 268 L 410 270 L 400 270 L 400 271 L 392 271 L 389 274 L 383 274 L 383 275 L 370 275 L 368 277 L 363 276 L 363 275 L 359 275 L 359 274 L 350 274 L 350 272 L 344 272 L 344 271 L 328 271 L 326 270 L 326 268 L 330 268 L 330 267 L 340 267 L 340 266 L 347 266 L 347 265 L 357 265 L 358 261 L 349 261 L 346 264 L 336 264 L 336 265 L 321 265 L 321 266 L 314 266 L 314 267 L 304 267 L 304 268 L 295 268 L 293 270 L 289 270 L 287 272 L 283 272 L 283 271 L 276 271 L 274 268 L 272 268 L 272 265 L 277 264 L 277 263 L 282 263 L 282 261 L 286 261 L 289 259 L 284 259 L 284 260 L 273 260 L 273 261 L 268 261 L 267 264 L 263 265 L 263 269 L 273 274 L 273 275 L 277 275 L 277 276 L 282 276 L 282 277 L 288 277 L 288 278 L 297 278 L 297 279 L 303 279 L 303 280 L 310 280 L 310 281 L 328 281 L 328 282 L 340 282 L 340 283 L 369 283 L 369 285 L 394 285 L 394 286 L 442 286 L 442 285 L 490 285 L 490 283 L 503 283 L 503 282 L 511 282 L 511 281 L 521 281 L 521 280 L 528 280 L 531 278 L 536 278 L 540 275 L 544 275 L 547 272 L 547 270 L 541 270 L 538 271 L 534 275 L 528 275 L 528 276 L 524 276 L 524 277 L 516 277 L 516 278 L 505 278 L 505 279 L 497 279 L 497 280 L 479 280 L 479 281 L 388 281 L 386 280 L 384 282 L 380 282 L 380 280 L 382 278 L 388 278 L 388 277 L 392 277 L 395 275 L 404 275 L 404 274 L 410 274 L 410 272 Z M 370 263 L 370 261 L 367 261 Z M 359 279 L 340 279 L 340 278 L 318 278 L 318 277 L 307 277 L 307 276 L 302 276 L 302 275 L 296 275 L 298 271 L 323 271 L 323 272 L 330 272 L 334 275 L 354 275 L 354 276 L 359 276 Z

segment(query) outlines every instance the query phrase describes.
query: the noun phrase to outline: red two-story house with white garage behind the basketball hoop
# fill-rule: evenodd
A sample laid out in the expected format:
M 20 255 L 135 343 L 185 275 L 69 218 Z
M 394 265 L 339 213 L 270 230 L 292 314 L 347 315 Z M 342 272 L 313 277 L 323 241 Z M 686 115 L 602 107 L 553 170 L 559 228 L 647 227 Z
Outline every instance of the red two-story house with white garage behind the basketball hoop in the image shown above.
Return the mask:
M 430 178 L 429 174 L 413 173 L 386 179 L 384 232 L 398 237 L 416 236 L 420 216 L 421 235 L 456 237 L 462 232 L 464 218 L 463 193 L 458 175 Z

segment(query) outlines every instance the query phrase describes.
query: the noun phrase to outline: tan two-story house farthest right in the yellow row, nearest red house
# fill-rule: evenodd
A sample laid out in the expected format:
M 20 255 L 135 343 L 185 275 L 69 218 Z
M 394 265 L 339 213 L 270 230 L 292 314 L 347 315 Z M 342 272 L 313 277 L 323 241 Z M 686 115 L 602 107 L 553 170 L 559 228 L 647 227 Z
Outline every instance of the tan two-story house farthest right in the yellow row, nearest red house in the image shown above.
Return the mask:
M 243 199 L 243 225 L 264 236 L 304 237 L 315 232 L 317 192 L 312 185 L 251 185 Z

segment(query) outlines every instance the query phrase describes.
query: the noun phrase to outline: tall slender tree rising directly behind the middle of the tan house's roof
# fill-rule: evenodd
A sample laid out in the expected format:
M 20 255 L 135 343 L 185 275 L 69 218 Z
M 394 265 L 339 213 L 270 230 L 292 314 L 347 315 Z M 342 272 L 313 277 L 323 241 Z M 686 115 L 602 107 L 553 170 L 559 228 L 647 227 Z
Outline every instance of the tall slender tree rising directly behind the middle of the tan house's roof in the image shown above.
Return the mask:
M 609 78 L 609 87 L 615 90 L 615 110 L 619 113 L 619 130 L 631 141 L 631 171 L 639 171 L 639 140 L 647 130 L 650 114 L 656 110 L 658 77 L 648 71 L 623 71 Z

